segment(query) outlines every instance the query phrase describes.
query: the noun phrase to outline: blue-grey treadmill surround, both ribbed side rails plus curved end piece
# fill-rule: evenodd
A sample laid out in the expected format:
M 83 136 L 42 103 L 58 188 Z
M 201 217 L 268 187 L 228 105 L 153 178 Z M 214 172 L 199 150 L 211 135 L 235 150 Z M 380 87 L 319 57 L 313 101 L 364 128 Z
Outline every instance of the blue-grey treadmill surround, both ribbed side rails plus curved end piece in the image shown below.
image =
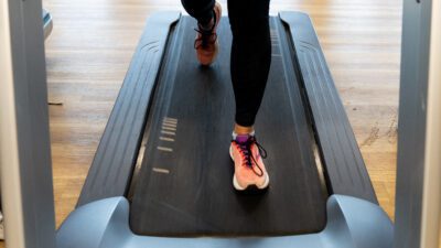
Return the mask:
M 376 247 L 392 246 L 392 224 L 377 200 L 343 104 L 308 14 L 282 12 L 291 54 L 325 168 L 326 227 L 279 237 L 171 238 L 135 235 L 125 198 L 140 150 L 159 68 L 179 12 L 153 14 L 144 30 L 103 134 L 78 205 L 57 233 L 58 247 Z M 295 29 L 294 29 L 295 28 Z M 300 75 L 299 75 L 300 74 Z M 139 90 L 139 89 L 142 90 Z M 329 131 L 331 129 L 332 131 Z M 359 213 L 363 213 L 361 215 Z M 90 219 L 93 218 L 93 219 Z

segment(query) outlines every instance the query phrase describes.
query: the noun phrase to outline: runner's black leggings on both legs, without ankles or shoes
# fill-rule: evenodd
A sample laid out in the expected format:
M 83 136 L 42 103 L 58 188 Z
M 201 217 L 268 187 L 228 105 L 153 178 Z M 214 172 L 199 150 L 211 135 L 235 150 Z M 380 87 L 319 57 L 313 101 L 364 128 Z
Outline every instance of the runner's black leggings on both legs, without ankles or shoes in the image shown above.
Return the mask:
M 206 24 L 215 0 L 182 0 L 190 15 Z M 236 123 L 255 123 L 271 64 L 269 0 L 228 0 L 233 32 L 230 73 L 236 99 Z

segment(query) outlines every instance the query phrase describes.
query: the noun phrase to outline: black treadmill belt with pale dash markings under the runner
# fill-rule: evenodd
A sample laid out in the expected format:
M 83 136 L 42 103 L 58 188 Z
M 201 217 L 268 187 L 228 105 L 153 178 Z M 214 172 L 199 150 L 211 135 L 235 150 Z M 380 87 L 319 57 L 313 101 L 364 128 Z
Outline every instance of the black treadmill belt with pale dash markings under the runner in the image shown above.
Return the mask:
M 284 28 L 271 18 L 272 63 L 256 121 L 268 151 L 270 188 L 240 195 L 228 154 L 234 125 L 229 76 L 232 34 L 218 29 L 220 53 L 198 66 L 195 22 L 173 29 L 146 128 L 147 149 L 135 175 L 131 229 L 153 236 L 268 236 L 316 233 L 325 225 L 325 198 L 311 131 L 298 89 Z

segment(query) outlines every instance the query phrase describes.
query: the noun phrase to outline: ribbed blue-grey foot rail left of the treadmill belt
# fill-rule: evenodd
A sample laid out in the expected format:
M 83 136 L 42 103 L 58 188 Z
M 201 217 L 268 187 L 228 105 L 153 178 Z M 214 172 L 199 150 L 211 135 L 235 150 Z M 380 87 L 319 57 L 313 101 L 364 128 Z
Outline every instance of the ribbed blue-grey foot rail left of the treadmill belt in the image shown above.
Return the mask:
M 148 19 L 77 207 L 106 197 L 122 196 L 128 191 L 170 28 L 180 17 L 178 11 L 168 11 L 157 12 Z

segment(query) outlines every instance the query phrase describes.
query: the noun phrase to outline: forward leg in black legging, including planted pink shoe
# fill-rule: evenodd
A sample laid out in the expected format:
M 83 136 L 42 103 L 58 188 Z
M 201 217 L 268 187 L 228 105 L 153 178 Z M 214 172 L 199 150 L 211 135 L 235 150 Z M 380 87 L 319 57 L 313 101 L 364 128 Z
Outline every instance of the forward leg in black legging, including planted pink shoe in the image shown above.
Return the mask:
M 236 100 L 230 155 L 235 162 L 233 185 L 238 191 L 263 190 L 269 176 L 257 142 L 254 123 L 271 64 L 269 0 L 228 0 L 233 32 L 232 82 Z

